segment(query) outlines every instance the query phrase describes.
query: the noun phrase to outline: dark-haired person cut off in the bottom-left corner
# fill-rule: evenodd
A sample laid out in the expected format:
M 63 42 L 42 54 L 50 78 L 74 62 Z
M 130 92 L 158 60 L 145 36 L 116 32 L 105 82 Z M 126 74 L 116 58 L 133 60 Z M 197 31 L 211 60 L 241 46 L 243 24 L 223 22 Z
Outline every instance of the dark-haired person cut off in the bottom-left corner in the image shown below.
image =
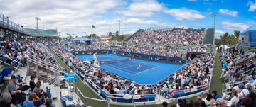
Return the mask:
M 3 93 L 0 97 L 0 106 L 1 107 L 12 107 L 14 105 L 11 104 L 11 94 L 10 93 Z

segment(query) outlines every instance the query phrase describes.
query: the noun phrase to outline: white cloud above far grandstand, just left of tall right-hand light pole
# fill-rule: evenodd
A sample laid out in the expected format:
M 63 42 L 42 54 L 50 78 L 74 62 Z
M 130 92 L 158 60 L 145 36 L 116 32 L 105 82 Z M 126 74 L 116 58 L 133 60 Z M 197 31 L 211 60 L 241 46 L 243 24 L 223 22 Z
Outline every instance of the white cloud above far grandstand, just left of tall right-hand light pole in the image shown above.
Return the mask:
M 168 9 L 165 10 L 164 13 L 167 13 L 171 16 L 174 16 L 176 20 L 197 20 L 197 19 L 203 19 L 206 18 L 205 16 L 201 15 L 200 12 L 196 10 L 181 8 L 181 9 Z

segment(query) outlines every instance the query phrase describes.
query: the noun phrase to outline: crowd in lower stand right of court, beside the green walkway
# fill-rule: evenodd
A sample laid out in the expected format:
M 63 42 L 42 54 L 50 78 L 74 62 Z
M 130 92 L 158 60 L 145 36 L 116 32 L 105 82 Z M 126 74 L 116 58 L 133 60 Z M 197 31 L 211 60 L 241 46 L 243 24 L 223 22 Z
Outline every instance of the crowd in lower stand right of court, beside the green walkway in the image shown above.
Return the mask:
M 184 65 L 164 81 L 156 84 L 157 89 L 164 91 L 165 94 L 169 94 L 168 98 L 171 98 L 175 91 L 207 90 L 213 73 L 214 58 L 215 53 L 194 58 L 189 64 Z

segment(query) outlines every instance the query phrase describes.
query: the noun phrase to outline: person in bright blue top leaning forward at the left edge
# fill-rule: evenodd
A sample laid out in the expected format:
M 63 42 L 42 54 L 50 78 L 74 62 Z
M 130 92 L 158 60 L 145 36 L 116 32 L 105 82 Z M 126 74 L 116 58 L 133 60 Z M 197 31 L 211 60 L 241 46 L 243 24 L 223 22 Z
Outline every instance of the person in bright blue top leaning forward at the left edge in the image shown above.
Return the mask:
M 10 64 L 8 67 L 5 67 L 1 73 L 1 83 L 4 83 L 6 80 L 11 80 L 12 70 L 14 69 L 14 64 Z

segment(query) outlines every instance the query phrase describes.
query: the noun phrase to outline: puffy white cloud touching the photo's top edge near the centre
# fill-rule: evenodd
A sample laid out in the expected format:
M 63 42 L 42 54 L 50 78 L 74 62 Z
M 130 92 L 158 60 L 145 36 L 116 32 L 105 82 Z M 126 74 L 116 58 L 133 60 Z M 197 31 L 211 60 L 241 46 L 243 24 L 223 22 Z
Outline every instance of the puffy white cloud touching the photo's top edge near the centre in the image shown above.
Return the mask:
M 123 14 L 124 16 L 142 16 L 149 17 L 154 14 L 154 12 L 161 11 L 163 9 L 163 4 L 154 0 L 149 1 L 134 1 L 129 5 L 129 8 L 124 11 L 116 11 L 116 13 Z

